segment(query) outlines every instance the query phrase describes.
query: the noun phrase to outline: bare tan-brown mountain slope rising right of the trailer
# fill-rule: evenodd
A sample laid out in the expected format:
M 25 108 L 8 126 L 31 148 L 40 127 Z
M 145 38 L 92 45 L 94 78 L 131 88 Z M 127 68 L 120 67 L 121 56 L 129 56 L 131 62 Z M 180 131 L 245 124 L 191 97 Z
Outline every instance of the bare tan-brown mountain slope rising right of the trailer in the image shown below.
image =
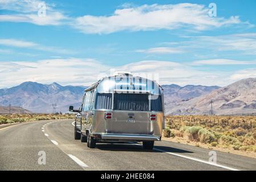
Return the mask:
M 209 114 L 213 101 L 214 114 L 256 113 L 256 78 L 247 78 L 209 94 L 166 106 L 169 114 Z

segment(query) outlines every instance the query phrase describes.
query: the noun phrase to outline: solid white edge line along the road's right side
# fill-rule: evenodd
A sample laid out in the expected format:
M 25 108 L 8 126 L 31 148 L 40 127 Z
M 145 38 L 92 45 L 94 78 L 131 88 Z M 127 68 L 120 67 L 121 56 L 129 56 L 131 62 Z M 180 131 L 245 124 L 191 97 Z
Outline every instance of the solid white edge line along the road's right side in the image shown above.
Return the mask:
M 138 144 L 138 143 L 133 143 L 133 144 L 141 146 L 141 144 Z M 224 165 L 216 164 L 216 163 L 210 163 L 210 162 L 208 162 L 208 161 L 206 161 L 206 160 L 191 158 L 191 157 L 189 157 L 189 156 L 180 155 L 180 154 L 175 154 L 175 153 L 173 153 L 173 152 L 167 152 L 167 151 L 164 151 L 164 150 L 155 148 L 155 147 L 154 147 L 153 149 L 156 150 L 156 151 L 164 152 L 164 153 L 166 153 L 166 154 L 171 154 L 171 155 L 179 156 L 180 158 L 185 158 L 185 159 L 189 159 L 189 160 L 194 160 L 194 161 L 197 161 L 197 162 L 200 162 L 200 163 L 205 163 L 205 164 L 209 164 L 209 165 L 212 165 L 212 166 L 221 167 L 221 168 L 228 169 L 228 170 L 231 170 L 231 171 L 240 171 L 239 169 L 235 169 L 235 168 L 232 168 L 232 167 L 228 167 L 228 166 L 224 166 Z

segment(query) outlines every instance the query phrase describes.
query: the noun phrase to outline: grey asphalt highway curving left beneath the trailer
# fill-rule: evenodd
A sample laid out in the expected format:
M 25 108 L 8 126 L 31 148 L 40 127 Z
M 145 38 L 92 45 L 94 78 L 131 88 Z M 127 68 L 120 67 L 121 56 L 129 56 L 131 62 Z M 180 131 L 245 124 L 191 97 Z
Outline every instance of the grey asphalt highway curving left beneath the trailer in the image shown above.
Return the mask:
M 253 158 L 216 151 L 217 164 L 210 163 L 210 150 L 167 141 L 155 142 L 154 150 L 143 150 L 141 143 L 99 143 L 91 149 L 74 140 L 72 122 L 0 129 L 0 170 L 256 170 Z

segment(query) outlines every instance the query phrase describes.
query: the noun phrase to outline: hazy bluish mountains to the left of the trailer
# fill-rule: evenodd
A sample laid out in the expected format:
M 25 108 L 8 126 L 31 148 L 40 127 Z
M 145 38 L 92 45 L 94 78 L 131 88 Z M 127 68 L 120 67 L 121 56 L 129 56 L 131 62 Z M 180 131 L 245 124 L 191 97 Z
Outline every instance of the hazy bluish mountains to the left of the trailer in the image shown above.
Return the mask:
M 20 106 L 34 113 L 52 113 L 52 104 L 56 111 L 67 111 L 69 105 L 81 105 L 84 86 L 61 86 L 56 82 L 49 85 L 37 82 L 23 82 L 9 89 L 0 89 L 0 105 Z

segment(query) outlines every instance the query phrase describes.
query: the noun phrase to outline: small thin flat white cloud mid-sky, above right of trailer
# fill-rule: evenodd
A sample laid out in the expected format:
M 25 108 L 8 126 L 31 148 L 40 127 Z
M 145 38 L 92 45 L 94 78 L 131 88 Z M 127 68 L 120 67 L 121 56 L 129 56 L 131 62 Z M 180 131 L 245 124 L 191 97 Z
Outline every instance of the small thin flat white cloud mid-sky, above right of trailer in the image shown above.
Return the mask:
M 149 49 L 138 49 L 136 52 L 143 53 L 156 53 L 156 54 L 175 54 L 175 53 L 183 53 L 184 51 L 177 48 L 172 47 L 155 47 Z

